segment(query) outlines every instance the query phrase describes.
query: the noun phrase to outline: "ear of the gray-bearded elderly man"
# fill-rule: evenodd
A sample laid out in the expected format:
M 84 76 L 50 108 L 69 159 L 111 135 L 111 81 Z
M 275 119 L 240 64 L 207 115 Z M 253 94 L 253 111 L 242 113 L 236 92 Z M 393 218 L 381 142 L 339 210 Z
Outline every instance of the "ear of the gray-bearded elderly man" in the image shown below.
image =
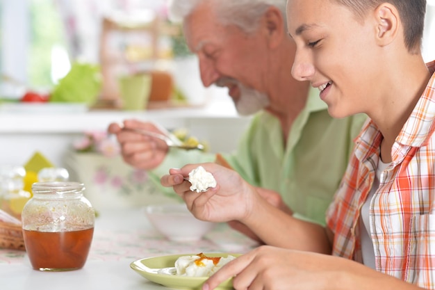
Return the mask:
M 286 37 L 286 19 L 276 7 L 270 7 L 261 19 L 261 28 L 266 33 L 270 48 L 279 47 L 281 41 Z

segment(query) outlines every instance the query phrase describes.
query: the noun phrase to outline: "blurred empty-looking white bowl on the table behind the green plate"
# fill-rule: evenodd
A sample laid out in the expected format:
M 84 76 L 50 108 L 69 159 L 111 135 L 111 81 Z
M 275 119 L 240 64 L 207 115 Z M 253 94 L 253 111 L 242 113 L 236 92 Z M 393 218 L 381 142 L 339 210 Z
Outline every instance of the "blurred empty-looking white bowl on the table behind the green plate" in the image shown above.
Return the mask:
M 145 207 L 152 225 L 172 241 L 198 241 L 215 227 L 215 223 L 198 220 L 186 204 L 156 204 Z

